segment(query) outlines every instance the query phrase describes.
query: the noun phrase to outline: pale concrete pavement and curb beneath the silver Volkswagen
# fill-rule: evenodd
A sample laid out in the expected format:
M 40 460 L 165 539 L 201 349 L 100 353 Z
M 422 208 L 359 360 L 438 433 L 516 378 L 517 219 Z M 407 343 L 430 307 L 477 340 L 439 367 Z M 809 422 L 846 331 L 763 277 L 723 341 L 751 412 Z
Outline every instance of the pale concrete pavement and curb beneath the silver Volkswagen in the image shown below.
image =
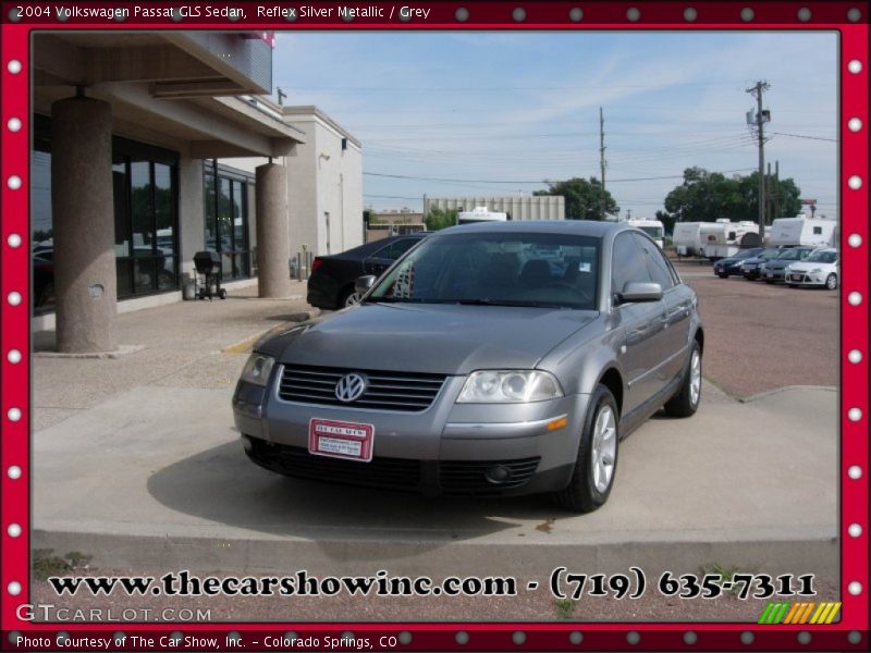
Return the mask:
M 623 443 L 611 500 L 585 516 L 544 497 L 333 486 L 256 467 L 233 430 L 244 352 L 307 310 L 182 303 L 120 317 L 121 342 L 138 353 L 36 358 L 32 546 L 102 567 L 438 576 L 719 564 L 837 578 L 833 389 L 738 403 L 706 383 L 694 418 L 655 417 Z

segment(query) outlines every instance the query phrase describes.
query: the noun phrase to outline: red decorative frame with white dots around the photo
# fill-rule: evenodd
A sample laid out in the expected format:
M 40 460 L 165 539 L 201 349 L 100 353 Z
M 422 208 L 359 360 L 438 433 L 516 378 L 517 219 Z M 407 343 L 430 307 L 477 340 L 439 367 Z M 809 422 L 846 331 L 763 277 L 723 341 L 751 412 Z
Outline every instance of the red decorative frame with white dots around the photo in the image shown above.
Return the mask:
M 842 546 L 842 619 L 832 626 L 756 627 L 752 624 L 294 624 L 299 637 L 342 637 L 352 631 L 377 642 L 380 637 L 400 638 L 398 649 L 420 651 L 568 651 L 568 650 L 711 650 L 711 651 L 867 651 L 869 650 L 869 430 L 868 430 L 868 273 L 869 273 L 869 2 L 827 1 L 750 1 L 708 2 L 404 2 L 409 7 L 431 9 L 431 19 L 421 23 L 384 22 L 383 19 L 355 19 L 353 22 L 321 21 L 306 24 L 278 20 L 263 23 L 256 20 L 228 19 L 143 20 L 128 17 L 107 24 L 53 17 L 11 20 L 15 8 L 35 2 L 2 2 L 0 34 L 2 35 L 2 67 L 0 69 L 0 106 L 2 106 L 2 264 L 0 267 L 0 323 L 2 324 L 2 572 L 0 578 L 0 626 L 2 650 L 27 650 L 13 646 L 12 631 L 29 636 L 57 636 L 61 630 L 74 637 L 107 637 L 120 628 L 118 624 L 95 625 L 32 624 L 20 620 L 15 607 L 28 602 L 29 577 L 29 222 L 28 222 L 28 155 L 29 155 L 29 37 L 35 28 L 51 29 L 788 29 L 833 30 L 841 36 L 841 248 L 843 283 L 841 300 L 841 546 Z M 66 7 L 106 7 L 101 2 L 62 2 Z M 145 3 L 142 3 L 144 5 Z M 187 7 L 205 7 L 205 2 L 187 2 Z M 250 7 L 247 0 L 224 2 L 226 5 Z M 254 3 L 257 4 L 257 3 Z M 274 7 L 277 3 L 262 2 Z M 280 7 L 298 7 L 299 2 L 280 2 Z M 327 2 L 308 2 L 314 7 L 334 7 Z M 349 3 L 354 4 L 354 3 Z M 113 2 L 113 7 L 133 8 L 131 2 Z M 149 7 L 172 8 L 181 3 L 148 2 Z M 369 5 L 385 8 L 390 3 L 375 1 Z M 525 11 L 517 20 L 514 11 Z M 580 9 L 582 17 L 569 17 L 569 11 Z M 694 9 L 695 17 L 685 11 Z M 461 10 L 461 13 L 457 13 Z M 465 10 L 465 20 L 462 10 Z M 809 13 L 807 13 L 809 11 Z M 849 12 L 859 11 L 859 17 Z M 749 14 L 752 13 L 752 16 Z M 20 70 L 12 63 L 17 61 Z M 858 62 L 858 67 L 857 63 Z M 10 121 L 19 119 L 13 131 Z M 859 119 L 861 126 L 851 131 L 848 123 Z M 17 176 L 21 184 L 11 182 Z M 856 188 L 856 180 L 860 187 Z M 20 239 L 16 241 L 16 235 Z M 14 293 L 19 301 L 14 301 Z M 16 359 L 14 352 L 20 353 Z M 857 357 L 856 352 L 860 354 Z M 15 410 L 17 409 L 17 415 Z M 17 419 L 14 419 L 17 417 Z M 17 470 L 17 473 L 15 472 Z M 21 527 L 19 535 L 10 526 Z M 851 525 L 861 527 L 858 535 L 850 534 Z M 855 529 L 854 529 L 855 533 Z M 20 593 L 10 593 L 11 583 L 20 583 Z M 852 584 L 851 584 L 852 583 Z M 859 583 L 854 595 L 850 587 Z M 134 626 L 134 625 L 130 625 Z M 285 625 L 290 628 L 291 626 Z M 230 632 L 243 637 L 278 634 L 280 625 L 263 624 L 184 624 L 186 633 L 199 637 L 216 636 L 219 641 Z M 268 629 L 268 632 L 266 632 Z M 172 625 L 142 625 L 123 628 L 131 633 L 154 637 L 176 631 Z M 578 633 L 582 641 L 578 642 Z M 135 650 L 122 646 L 122 650 Z M 247 649 L 252 650 L 252 649 Z M 381 650 L 375 648 L 373 650 Z

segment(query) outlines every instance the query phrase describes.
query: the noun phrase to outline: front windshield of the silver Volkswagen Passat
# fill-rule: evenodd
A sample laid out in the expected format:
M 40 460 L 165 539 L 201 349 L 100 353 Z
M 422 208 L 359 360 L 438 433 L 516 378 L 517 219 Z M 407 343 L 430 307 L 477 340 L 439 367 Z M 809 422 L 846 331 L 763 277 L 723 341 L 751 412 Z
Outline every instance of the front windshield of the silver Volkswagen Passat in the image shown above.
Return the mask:
M 366 301 L 594 310 L 601 239 L 554 233 L 430 236 Z

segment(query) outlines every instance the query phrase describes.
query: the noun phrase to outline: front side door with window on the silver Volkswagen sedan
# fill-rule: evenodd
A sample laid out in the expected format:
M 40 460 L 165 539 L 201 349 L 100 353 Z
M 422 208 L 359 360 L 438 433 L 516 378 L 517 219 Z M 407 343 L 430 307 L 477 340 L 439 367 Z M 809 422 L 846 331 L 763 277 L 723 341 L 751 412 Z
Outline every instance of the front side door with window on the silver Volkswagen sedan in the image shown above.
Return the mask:
M 618 294 L 629 282 L 653 282 L 645 256 L 631 232 L 615 237 L 611 255 L 612 295 Z M 624 415 L 662 389 L 657 366 L 665 337 L 664 306 L 662 300 L 630 301 L 617 304 L 613 309 L 617 328 L 623 332 L 618 361 L 626 381 Z

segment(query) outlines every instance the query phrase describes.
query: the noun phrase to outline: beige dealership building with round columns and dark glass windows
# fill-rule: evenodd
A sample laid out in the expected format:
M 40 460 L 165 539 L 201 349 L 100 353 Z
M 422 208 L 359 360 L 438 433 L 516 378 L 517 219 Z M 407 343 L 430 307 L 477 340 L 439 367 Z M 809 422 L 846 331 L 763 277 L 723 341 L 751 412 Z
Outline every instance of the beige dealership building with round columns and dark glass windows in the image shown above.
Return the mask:
M 32 74 L 34 328 L 59 352 L 115 350 L 116 313 L 179 300 L 197 251 L 285 297 L 292 252 L 363 242 L 360 144 L 259 97 L 267 35 L 38 33 Z

